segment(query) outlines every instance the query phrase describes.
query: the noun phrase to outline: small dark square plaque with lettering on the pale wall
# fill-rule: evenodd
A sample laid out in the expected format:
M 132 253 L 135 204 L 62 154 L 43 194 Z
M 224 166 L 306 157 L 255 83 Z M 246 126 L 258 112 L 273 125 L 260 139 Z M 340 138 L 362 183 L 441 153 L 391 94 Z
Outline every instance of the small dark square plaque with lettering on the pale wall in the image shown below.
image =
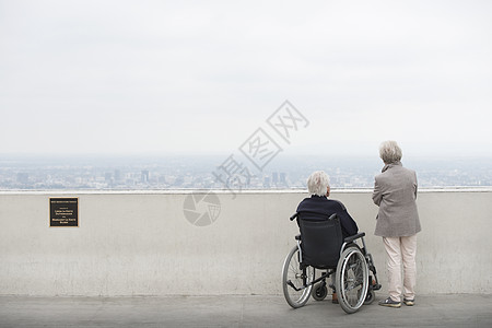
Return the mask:
M 79 226 L 79 198 L 50 198 L 49 226 Z

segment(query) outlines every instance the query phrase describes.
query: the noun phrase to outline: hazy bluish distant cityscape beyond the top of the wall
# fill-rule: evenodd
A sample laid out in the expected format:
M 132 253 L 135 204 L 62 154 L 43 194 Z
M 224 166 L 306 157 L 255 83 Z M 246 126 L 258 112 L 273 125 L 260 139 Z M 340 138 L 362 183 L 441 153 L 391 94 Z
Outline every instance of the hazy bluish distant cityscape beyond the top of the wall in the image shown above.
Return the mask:
M 302 189 L 324 169 L 337 188 L 372 188 L 378 159 L 279 155 L 261 172 L 247 159 L 179 156 L 0 156 L 0 190 Z M 231 162 L 231 161 L 230 161 Z M 492 186 L 492 159 L 418 159 L 421 188 Z M 229 169 L 224 178 L 219 171 Z M 241 168 L 241 171 L 239 171 Z M 234 173 L 232 175 L 231 173 Z

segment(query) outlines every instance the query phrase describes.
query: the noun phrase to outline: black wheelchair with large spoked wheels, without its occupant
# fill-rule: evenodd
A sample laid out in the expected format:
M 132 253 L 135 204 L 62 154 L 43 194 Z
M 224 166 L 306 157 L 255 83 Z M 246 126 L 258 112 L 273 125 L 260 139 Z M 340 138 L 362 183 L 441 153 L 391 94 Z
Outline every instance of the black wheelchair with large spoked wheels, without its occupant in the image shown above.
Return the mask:
M 373 257 L 367 251 L 365 233 L 343 239 L 337 214 L 295 213 L 301 234 L 295 236 L 297 245 L 285 257 L 282 268 L 282 290 L 285 301 L 293 308 L 304 306 L 309 296 L 323 301 L 328 294 L 328 284 L 337 292 L 342 309 L 352 314 L 362 305 L 371 304 L 377 281 Z M 362 247 L 358 244 L 362 243 Z M 321 273 L 316 278 L 316 270 Z M 374 274 L 374 278 L 372 274 Z M 333 276 L 335 274 L 335 276 Z

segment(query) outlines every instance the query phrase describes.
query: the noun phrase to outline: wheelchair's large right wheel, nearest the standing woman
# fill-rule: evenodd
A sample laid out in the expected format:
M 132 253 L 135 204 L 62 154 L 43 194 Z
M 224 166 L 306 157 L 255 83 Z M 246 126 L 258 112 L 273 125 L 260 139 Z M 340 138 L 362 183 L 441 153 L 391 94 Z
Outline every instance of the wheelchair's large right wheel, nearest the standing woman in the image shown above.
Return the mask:
M 368 289 L 368 269 L 359 247 L 343 250 L 337 266 L 335 288 L 344 312 L 354 313 L 364 304 Z

